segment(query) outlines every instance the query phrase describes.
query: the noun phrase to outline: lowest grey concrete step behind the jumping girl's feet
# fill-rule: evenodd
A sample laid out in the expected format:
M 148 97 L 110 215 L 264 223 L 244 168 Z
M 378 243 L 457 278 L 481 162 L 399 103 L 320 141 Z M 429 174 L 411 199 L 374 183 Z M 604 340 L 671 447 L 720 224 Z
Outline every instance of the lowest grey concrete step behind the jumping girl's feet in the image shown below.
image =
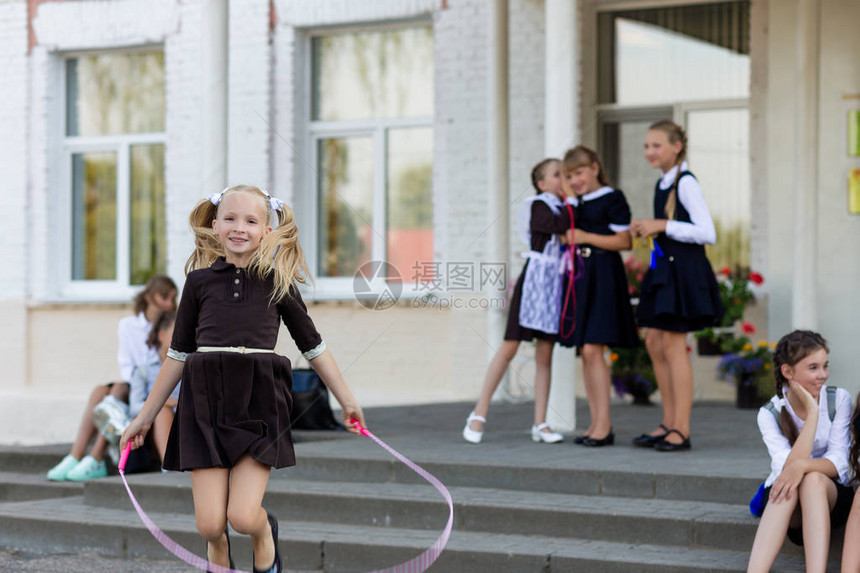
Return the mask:
M 191 515 L 152 512 L 171 538 L 202 553 Z M 357 572 L 389 567 L 418 555 L 438 531 L 342 523 L 281 522 L 281 550 L 291 569 Z M 0 504 L 0 537 L 7 549 L 40 553 L 90 552 L 161 559 L 165 550 L 132 510 L 94 508 L 83 497 Z M 237 565 L 248 567 L 250 547 L 233 535 Z M 747 553 L 548 536 L 455 531 L 431 571 L 470 573 L 594 573 L 743 571 Z M 781 556 L 775 571 L 803 571 L 802 559 Z

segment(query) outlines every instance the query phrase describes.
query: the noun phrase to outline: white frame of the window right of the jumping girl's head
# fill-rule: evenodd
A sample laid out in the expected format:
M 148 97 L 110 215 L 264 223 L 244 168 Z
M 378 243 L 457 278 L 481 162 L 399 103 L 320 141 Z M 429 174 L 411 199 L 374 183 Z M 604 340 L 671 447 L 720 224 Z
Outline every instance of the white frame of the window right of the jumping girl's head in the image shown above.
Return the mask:
M 304 125 L 305 125 L 305 157 L 310 159 L 311 176 L 304 185 L 308 191 L 309 200 L 305 204 L 309 216 L 305 219 L 308 229 L 303 243 L 305 258 L 311 274 L 314 277 L 314 287 L 306 292 L 306 295 L 314 300 L 351 300 L 355 297 L 353 277 L 323 277 L 319 273 L 319 253 L 322 249 L 319 241 L 319 215 L 320 215 L 320 174 L 319 169 L 319 146 L 321 139 L 348 138 L 348 137 L 370 137 L 373 145 L 373 220 L 370 221 L 373 232 L 373 243 L 371 247 L 371 260 L 386 260 L 388 241 L 388 131 L 398 128 L 429 128 L 433 129 L 433 116 L 413 116 L 404 118 L 371 118 L 361 120 L 344 121 L 318 121 L 313 119 L 313 49 L 312 43 L 315 38 L 337 34 L 353 34 L 357 32 L 376 32 L 385 30 L 400 30 L 426 26 L 431 30 L 432 22 L 426 19 L 408 20 L 395 24 L 370 25 L 362 27 L 344 27 L 337 30 L 311 31 L 305 35 L 304 45 Z M 435 42 L 435 34 L 433 38 Z M 434 62 L 435 65 L 435 62 Z M 434 134 L 435 135 L 435 134 Z M 434 156 L 435 161 L 435 156 Z M 382 229 L 382 231 L 376 231 Z M 382 237 L 379 236 L 381 233 Z M 411 270 L 411 269 L 410 269 Z M 408 281 L 410 277 L 402 277 Z M 372 288 L 381 288 L 381 285 L 371 285 Z M 410 289 L 403 289 L 401 298 L 417 296 Z

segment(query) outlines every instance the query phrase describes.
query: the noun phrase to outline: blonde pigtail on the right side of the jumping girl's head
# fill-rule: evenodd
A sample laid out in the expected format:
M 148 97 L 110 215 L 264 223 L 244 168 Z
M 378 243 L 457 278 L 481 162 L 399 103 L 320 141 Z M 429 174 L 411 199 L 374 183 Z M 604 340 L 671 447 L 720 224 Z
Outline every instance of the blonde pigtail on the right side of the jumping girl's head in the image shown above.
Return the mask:
M 266 235 L 251 263 L 251 268 L 261 278 L 274 273 L 273 303 L 289 296 L 294 284 L 307 284 L 310 279 L 292 209 L 284 205 L 277 214 L 278 227 Z

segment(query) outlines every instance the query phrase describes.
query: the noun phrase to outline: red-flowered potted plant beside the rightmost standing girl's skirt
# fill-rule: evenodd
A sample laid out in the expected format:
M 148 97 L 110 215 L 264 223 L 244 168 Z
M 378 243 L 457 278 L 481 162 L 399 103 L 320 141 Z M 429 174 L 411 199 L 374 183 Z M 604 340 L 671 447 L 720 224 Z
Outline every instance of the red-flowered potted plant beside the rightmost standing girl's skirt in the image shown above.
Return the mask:
M 755 302 L 751 284 L 764 283 L 760 273 L 736 267 L 734 270 L 723 267 L 717 273 L 720 288 L 720 301 L 723 303 L 723 318 L 713 328 L 705 328 L 696 333 L 696 348 L 701 356 L 716 356 L 729 352 L 734 340 L 734 325 L 743 319 L 746 307 Z

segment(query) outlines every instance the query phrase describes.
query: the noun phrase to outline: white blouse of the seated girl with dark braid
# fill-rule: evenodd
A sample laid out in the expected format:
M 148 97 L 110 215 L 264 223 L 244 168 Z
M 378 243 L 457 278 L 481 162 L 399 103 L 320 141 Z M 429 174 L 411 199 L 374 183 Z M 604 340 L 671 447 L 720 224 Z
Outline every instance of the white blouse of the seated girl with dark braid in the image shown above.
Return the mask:
M 833 422 L 831 422 L 830 416 L 827 413 L 826 389 L 827 386 L 822 386 L 821 393 L 819 394 L 818 427 L 815 429 L 815 440 L 812 445 L 812 455 L 810 458 L 830 460 L 839 474 L 839 483 L 849 485 L 851 483 L 848 465 L 848 451 L 851 447 L 851 395 L 842 388 L 837 388 L 836 415 L 833 417 Z M 783 408 L 788 408 L 788 413 L 791 415 L 797 431 L 800 432 L 803 429 L 804 421 L 797 417 L 787 399 L 774 396 L 770 401 L 774 405 L 777 414 Z M 770 475 L 767 476 L 767 480 L 765 481 L 765 487 L 769 487 L 773 485 L 773 482 L 782 473 L 785 460 L 788 458 L 788 454 L 791 453 L 791 444 L 788 442 L 788 438 L 780 431 L 776 417 L 767 408 L 760 408 L 758 411 L 758 427 L 761 431 L 764 444 L 767 446 L 767 451 L 770 454 Z

